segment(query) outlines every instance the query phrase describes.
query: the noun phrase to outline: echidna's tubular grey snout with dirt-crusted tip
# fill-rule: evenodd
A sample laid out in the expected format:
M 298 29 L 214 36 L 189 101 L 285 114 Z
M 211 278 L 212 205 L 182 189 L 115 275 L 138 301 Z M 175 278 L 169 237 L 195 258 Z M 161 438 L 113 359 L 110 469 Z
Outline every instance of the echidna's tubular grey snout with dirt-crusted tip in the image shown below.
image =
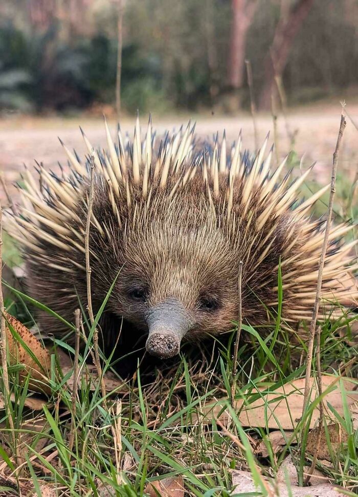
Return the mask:
M 178 354 L 182 338 L 191 326 L 185 307 L 176 299 L 168 299 L 152 308 L 146 321 L 149 328 L 147 352 L 158 357 Z

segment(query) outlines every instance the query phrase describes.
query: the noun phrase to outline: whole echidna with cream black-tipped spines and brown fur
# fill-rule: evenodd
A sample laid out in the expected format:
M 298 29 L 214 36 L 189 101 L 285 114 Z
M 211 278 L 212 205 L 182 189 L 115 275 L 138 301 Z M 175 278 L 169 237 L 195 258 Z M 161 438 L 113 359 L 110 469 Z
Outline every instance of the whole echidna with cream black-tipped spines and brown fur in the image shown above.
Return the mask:
M 39 166 L 39 183 L 26 170 L 18 215 L 7 228 L 24 248 L 30 295 L 68 321 L 79 300 L 85 305 L 85 226 L 90 157 L 94 161 L 89 233 L 92 304 L 97 312 L 110 286 L 100 327 L 111 350 L 119 333 L 129 349 L 141 337 L 152 355 L 171 357 L 183 338 L 200 341 L 233 329 L 238 318 L 238 274 L 242 262 L 242 317 L 253 326 L 270 324 L 278 307 L 282 274 L 282 322 L 310 320 L 316 296 L 325 221 L 308 217 L 312 204 L 297 191 L 310 172 L 280 179 L 287 158 L 271 171 L 268 141 L 255 157 L 241 152 L 241 135 L 227 149 L 225 133 L 200 143 L 194 126 L 155 145 L 149 119 L 141 141 L 139 120 L 132 141 L 120 128 L 108 151 L 92 152 L 83 164 L 64 146 L 71 166 L 61 177 Z M 319 319 L 338 319 L 347 299 L 358 296 L 350 254 L 355 242 L 342 237 L 353 227 L 335 225 L 329 235 Z M 341 304 L 339 306 L 334 304 Z M 40 327 L 56 336 L 68 332 L 47 312 Z M 123 353 L 123 351 L 121 351 Z

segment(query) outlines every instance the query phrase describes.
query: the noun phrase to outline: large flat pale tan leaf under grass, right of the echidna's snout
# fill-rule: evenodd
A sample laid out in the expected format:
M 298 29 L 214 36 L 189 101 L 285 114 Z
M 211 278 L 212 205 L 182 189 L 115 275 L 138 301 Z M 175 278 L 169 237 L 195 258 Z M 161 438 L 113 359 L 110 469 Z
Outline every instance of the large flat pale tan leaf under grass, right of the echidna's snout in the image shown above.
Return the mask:
M 325 407 L 325 415 L 328 419 L 334 420 L 331 411 L 327 407 L 329 402 L 333 408 L 342 416 L 342 394 L 340 390 L 339 380 L 343 380 L 344 388 L 347 394 L 347 402 L 349 406 L 353 406 L 354 402 L 358 401 L 358 392 L 353 392 L 352 389 L 356 382 L 350 378 L 336 377 L 330 375 L 322 376 L 323 394 L 329 387 L 334 387 L 333 390 L 324 396 L 323 403 Z M 235 410 L 238 413 L 238 418 L 242 426 L 251 427 L 267 427 L 270 429 L 294 430 L 302 416 L 304 378 L 287 383 L 287 385 L 277 388 L 273 392 L 262 394 L 264 398 L 259 398 L 247 406 L 244 406 L 244 400 L 238 400 L 235 403 Z M 318 389 L 315 378 L 310 379 L 311 400 L 318 397 Z M 263 392 L 267 388 L 261 388 Z M 256 393 L 256 392 L 255 392 Z M 246 400 L 246 399 L 245 399 Z M 201 423 L 211 424 L 212 419 L 217 418 L 223 424 L 230 421 L 228 411 L 222 411 L 222 402 L 216 401 L 215 404 L 210 402 L 205 405 L 200 417 L 193 416 L 193 420 Z M 319 419 L 319 406 L 312 413 L 310 427 L 313 428 Z M 267 418 L 267 424 L 266 424 Z

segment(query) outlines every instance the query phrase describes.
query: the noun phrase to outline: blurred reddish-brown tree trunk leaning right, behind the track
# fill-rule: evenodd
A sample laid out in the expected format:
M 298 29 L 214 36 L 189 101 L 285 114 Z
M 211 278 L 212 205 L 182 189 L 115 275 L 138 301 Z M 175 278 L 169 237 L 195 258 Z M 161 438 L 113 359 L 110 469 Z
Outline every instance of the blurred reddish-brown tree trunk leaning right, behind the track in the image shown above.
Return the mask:
M 275 80 L 282 76 L 289 51 L 314 1 L 297 0 L 295 5 L 286 12 L 284 8 L 286 0 L 283 0 L 274 40 L 264 61 L 265 83 L 259 99 L 260 109 L 271 108 L 272 95 L 277 92 Z

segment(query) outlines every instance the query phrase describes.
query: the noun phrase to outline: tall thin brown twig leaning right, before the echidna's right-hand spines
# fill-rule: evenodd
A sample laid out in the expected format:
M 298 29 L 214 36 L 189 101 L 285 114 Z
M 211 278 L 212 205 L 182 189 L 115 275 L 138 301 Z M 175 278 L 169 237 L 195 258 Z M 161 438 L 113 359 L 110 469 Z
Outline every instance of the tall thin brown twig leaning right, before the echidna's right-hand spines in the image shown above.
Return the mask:
M 337 144 L 335 145 L 335 150 L 333 153 L 331 191 L 330 191 L 330 195 L 329 195 L 328 216 L 327 216 L 326 228 L 325 228 L 325 233 L 324 233 L 324 240 L 323 240 L 323 245 L 322 245 L 322 253 L 321 253 L 320 262 L 319 262 L 319 266 L 318 266 L 316 300 L 315 300 L 314 311 L 312 314 L 311 325 L 309 328 L 309 342 L 308 342 L 308 352 L 307 352 L 307 360 L 306 360 L 307 366 L 306 366 L 306 377 L 305 377 L 302 416 L 304 415 L 307 401 L 308 401 L 308 395 L 309 395 L 309 380 L 310 380 L 310 376 L 311 376 L 312 352 L 313 352 L 313 347 L 314 347 L 314 342 L 315 342 L 315 332 L 316 332 L 316 323 L 317 323 L 318 311 L 319 311 L 319 307 L 320 307 L 324 261 L 325 261 L 325 257 L 326 257 L 327 246 L 328 246 L 328 237 L 329 237 L 331 221 L 332 221 L 332 210 L 333 210 L 333 199 L 334 199 L 334 193 L 335 193 L 335 177 L 337 175 L 337 166 L 338 166 L 338 155 L 339 155 L 340 145 L 341 145 L 341 141 L 342 141 L 342 137 L 343 137 L 343 131 L 344 131 L 344 128 L 346 127 L 346 124 L 347 123 L 346 123 L 345 115 L 344 115 L 344 105 L 342 105 L 341 124 L 340 124 L 340 129 L 338 132 Z

